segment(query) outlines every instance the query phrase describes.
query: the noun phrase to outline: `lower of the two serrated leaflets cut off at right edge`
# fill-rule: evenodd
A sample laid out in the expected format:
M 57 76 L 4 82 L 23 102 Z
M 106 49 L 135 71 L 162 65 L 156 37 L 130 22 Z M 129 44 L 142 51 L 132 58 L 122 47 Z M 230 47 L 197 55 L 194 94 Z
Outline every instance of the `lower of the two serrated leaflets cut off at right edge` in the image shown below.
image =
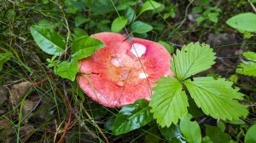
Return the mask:
M 243 75 L 256 77 L 256 63 L 253 61 L 243 62 L 238 65 L 236 72 Z

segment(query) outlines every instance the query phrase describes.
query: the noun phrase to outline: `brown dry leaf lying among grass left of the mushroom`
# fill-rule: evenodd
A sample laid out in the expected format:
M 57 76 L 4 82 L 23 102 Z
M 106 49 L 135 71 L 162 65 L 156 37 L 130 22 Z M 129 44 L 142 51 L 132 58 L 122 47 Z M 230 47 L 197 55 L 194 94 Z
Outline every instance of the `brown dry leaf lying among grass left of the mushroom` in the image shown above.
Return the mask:
M 12 103 L 13 106 L 17 105 L 19 100 L 26 94 L 26 91 L 30 89 L 31 86 L 32 83 L 30 82 L 22 82 L 13 85 L 9 96 L 10 103 Z

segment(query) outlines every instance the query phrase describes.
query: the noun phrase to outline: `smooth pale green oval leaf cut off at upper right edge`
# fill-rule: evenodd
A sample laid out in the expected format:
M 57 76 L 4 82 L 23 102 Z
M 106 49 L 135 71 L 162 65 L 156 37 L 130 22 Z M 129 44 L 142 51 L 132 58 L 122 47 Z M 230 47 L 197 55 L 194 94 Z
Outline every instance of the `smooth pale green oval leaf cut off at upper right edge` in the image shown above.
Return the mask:
M 256 14 L 253 13 L 237 14 L 226 23 L 237 30 L 256 32 Z

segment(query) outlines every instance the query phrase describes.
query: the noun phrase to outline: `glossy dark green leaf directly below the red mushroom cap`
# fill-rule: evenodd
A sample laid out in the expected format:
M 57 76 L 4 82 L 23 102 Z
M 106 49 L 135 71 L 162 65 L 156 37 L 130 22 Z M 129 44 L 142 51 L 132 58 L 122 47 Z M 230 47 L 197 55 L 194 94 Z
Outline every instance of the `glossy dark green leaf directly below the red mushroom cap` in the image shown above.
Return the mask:
M 148 100 L 137 100 L 134 104 L 124 106 L 113 123 L 113 134 L 125 134 L 139 129 L 153 121 Z

